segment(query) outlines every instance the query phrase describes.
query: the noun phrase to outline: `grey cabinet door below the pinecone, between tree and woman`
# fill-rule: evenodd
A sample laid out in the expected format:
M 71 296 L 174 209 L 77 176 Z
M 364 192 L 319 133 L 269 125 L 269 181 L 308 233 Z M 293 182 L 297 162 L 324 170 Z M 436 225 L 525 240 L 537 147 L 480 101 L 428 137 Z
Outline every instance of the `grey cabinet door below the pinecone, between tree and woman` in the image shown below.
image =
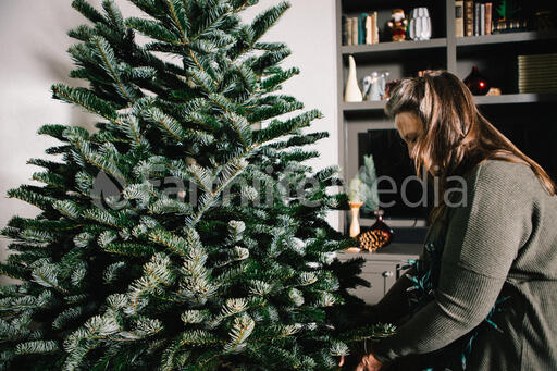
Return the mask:
M 368 281 L 371 287 L 358 287 L 350 290 L 367 304 L 376 304 L 396 281 L 397 264 L 400 261 L 367 261 L 360 277 Z

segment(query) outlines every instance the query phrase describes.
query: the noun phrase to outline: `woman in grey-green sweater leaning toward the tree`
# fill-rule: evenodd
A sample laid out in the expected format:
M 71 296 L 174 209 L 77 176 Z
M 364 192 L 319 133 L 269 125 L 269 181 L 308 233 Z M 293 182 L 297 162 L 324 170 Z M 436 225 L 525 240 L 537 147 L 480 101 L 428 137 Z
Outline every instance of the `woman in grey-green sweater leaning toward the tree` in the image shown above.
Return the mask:
M 417 174 L 448 196 L 432 210 L 420 263 L 373 308 L 397 333 L 357 370 L 557 368 L 555 184 L 446 71 L 403 79 L 385 111 Z

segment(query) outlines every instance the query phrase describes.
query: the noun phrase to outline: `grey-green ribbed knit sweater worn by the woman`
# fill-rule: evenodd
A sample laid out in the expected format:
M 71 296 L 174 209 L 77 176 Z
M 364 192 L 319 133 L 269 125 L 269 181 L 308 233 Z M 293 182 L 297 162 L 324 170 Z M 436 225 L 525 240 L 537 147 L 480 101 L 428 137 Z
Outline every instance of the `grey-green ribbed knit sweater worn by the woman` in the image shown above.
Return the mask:
M 380 320 L 405 320 L 373 354 L 388 363 L 474 331 L 467 370 L 556 370 L 557 197 L 525 164 L 500 160 L 480 163 L 467 188 L 466 206 L 448 208 L 425 237 L 442 251 L 433 299 L 409 314 L 412 283 L 398 280 L 375 310 Z M 502 297 L 504 310 L 490 317 L 498 330 L 484 325 Z

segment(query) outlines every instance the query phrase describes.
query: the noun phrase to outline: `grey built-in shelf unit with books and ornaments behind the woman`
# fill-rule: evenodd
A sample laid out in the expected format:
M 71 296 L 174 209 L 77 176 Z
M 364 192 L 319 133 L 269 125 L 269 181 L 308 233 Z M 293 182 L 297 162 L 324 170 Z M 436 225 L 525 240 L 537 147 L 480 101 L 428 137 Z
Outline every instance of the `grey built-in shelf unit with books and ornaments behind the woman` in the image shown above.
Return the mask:
M 379 24 L 384 25 L 395 8 L 403 8 L 408 15 L 414 7 L 426 5 L 433 24 L 432 39 L 426 41 L 384 41 L 375 45 L 342 45 L 342 15 L 357 16 L 362 12 L 377 11 Z M 499 87 L 502 96 L 474 97 L 480 111 L 522 151 L 557 175 L 557 125 L 553 106 L 557 94 L 519 94 L 517 87 L 517 55 L 555 52 L 557 32 L 521 32 L 511 34 L 459 37 L 455 35 L 454 0 L 336 0 L 336 45 L 338 88 L 338 147 L 343 176 L 349 181 L 358 171 L 358 133 L 373 129 L 394 129 L 394 123 L 384 113 L 384 101 L 345 102 L 344 87 L 348 71 L 348 55 L 354 55 L 357 77 L 372 71 L 388 71 L 389 78 L 416 76 L 416 72 L 428 69 L 446 69 L 465 78 L 473 65 L 488 78 L 492 86 Z M 550 151 L 550 154 L 544 151 Z M 401 230 L 416 226 L 426 228 L 424 220 L 389 220 L 387 223 Z M 367 226 L 372 219 L 362 218 Z M 341 218 L 341 230 L 346 232 L 348 214 Z M 408 227 L 408 228 L 406 228 Z M 416 234 L 419 236 L 420 234 Z M 395 234 L 395 238 L 397 235 Z M 421 240 L 405 240 L 419 244 Z

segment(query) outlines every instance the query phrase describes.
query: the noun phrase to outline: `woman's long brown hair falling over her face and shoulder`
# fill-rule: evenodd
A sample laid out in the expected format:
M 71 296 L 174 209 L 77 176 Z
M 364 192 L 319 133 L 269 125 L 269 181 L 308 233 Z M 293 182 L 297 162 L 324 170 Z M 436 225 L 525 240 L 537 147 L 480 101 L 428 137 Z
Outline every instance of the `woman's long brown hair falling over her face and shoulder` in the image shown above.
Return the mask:
M 545 170 L 478 111 L 472 94 L 454 74 L 440 70 L 401 79 L 385 106 L 385 113 L 391 118 L 400 112 L 412 112 L 420 118 L 424 134 L 411 153 L 416 174 L 422 176 L 422 169 L 426 169 L 438 176 L 442 195 L 448 189 L 448 176 L 465 176 L 480 162 L 499 159 L 528 164 L 545 190 L 555 196 L 555 183 Z M 442 197 L 430 214 L 430 223 L 444 208 Z

